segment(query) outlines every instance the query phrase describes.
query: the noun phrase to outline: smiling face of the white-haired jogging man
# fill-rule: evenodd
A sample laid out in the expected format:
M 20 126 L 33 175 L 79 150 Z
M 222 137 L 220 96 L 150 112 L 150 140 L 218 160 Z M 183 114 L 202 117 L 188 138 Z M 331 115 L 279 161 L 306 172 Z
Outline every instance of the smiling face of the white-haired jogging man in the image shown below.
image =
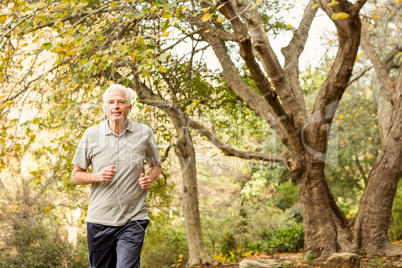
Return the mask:
M 125 94 L 119 90 L 113 90 L 107 95 L 105 110 L 111 121 L 125 121 L 132 107 L 133 105 L 127 103 Z

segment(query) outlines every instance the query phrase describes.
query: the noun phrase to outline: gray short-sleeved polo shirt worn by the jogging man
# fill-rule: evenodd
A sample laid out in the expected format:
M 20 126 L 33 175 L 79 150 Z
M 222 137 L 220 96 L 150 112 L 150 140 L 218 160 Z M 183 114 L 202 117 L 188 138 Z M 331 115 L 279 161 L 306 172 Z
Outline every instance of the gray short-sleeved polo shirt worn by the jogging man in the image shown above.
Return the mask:
M 146 125 L 128 119 L 126 129 L 118 136 L 105 120 L 84 132 L 72 163 L 85 170 L 92 165 L 92 172 L 116 165 L 110 182 L 91 185 L 87 222 L 122 226 L 149 219 L 147 191 L 138 183 L 144 161 L 159 161 L 153 132 Z

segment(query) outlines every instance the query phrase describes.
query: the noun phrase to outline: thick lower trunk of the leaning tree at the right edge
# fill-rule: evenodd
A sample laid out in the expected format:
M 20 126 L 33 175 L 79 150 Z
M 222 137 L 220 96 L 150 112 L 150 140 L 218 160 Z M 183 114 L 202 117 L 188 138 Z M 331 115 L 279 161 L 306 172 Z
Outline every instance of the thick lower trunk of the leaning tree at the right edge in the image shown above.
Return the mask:
M 402 96 L 394 105 L 389 134 L 370 173 L 355 222 L 357 241 L 368 255 L 402 255 L 388 240 L 392 204 L 402 175 Z

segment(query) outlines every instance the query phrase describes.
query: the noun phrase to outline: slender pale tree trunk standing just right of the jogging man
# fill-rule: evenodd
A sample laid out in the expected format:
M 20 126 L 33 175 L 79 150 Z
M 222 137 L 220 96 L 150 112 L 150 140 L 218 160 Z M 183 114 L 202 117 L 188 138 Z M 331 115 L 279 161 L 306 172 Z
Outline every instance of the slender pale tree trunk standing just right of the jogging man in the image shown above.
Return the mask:
M 178 133 L 175 152 L 179 158 L 183 176 L 183 209 L 186 226 L 189 260 L 187 267 L 209 267 L 212 264 L 202 236 L 197 192 L 197 170 L 193 141 L 188 128 L 182 127 L 177 118 L 171 116 Z

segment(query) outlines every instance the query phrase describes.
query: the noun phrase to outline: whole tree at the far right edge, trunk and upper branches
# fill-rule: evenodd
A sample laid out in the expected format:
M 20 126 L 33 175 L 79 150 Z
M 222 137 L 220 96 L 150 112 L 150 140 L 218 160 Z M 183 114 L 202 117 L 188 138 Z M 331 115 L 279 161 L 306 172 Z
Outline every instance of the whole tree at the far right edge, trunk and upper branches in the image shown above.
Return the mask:
M 376 103 L 382 141 L 381 152 L 371 170 L 368 185 L 361 200 L 361 208 L 356 217 L 355 227 L 361 235 L 361 243 L 370 254 L 400 254 L 387 240 L 387 232 L 391 217 L 392 203 L 401 177 L 401 112 L 402 112 L 402 69 L 398 52 L 402 51 L 400 34 L 391 34 L 393 28 L 399 28 L 401 14 L 398 12 L 398 2 L 385 1 L 381 7 L 384 19 L 377 21 L 377 13 L 369 13 L 365 18 L 361 47 L 373 64 L 380 88 L 377 89 Z M 378 6 L 377 6 L 378 7 Z M 387 33 L 377 40 L 387 40 L 390 46 L 377 51 L 369 36 L 367 26 L 376 27 L 376 32 Z M 390 29 L 388 29 L 390 27 Z M 393 70 L 396 69 L 395 72 Z M 397 162 L 394 162 L 397 161 Z M 381 200 L 381 204 L 378 202 Z

